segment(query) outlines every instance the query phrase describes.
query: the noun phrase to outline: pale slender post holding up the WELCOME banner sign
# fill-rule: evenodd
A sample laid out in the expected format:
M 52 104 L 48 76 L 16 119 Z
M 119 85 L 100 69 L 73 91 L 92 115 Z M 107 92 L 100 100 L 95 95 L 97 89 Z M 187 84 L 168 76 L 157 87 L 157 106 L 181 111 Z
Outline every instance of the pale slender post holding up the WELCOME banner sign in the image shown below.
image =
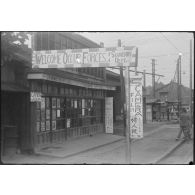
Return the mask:
M 125 85 L 126 85 L 126 163 L 131 164 L 131 151 L 130 151 L 130 78 L 129 67 L 125 69 Z

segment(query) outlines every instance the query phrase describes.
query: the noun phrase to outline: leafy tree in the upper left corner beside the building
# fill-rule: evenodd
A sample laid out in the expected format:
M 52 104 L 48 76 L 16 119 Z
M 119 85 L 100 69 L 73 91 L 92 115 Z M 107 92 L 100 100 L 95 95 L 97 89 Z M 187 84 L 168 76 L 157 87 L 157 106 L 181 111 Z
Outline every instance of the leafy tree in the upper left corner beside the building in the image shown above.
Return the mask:
M 30 56 L 27 44 L 30 36 L 29 32 L 1 32 L 1 65 L 12 61 L 16 54 Z

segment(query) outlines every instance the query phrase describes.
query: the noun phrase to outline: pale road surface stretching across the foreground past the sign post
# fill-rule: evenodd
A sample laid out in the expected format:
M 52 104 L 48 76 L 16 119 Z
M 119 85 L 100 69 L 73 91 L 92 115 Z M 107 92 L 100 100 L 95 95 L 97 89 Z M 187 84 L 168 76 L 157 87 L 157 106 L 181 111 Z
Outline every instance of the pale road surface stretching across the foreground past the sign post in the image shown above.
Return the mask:
M 177 147 L 181 142 L 175 141 L 179 131 L 177 124 L 154 124 L 155 128 L 150 128 L 150 124 L 147 125 L 144 138 L 133 140 L 131 143 L 131 164 L 155 164 L 157 161 L 158 164 L 188 164 L 192 160 L 193 141 Z M 77 144 L 78 146 L 81 144 L 79 139 Z M 176 149 L 167 156 L 171 148 Z M 163 156 L 166 158 L 159 161 L 159 158 Z M 19 154 L 5 159 L 4 162 L 11 164 L 126 164 L 126 142 L 123 139 L 65 158 Z

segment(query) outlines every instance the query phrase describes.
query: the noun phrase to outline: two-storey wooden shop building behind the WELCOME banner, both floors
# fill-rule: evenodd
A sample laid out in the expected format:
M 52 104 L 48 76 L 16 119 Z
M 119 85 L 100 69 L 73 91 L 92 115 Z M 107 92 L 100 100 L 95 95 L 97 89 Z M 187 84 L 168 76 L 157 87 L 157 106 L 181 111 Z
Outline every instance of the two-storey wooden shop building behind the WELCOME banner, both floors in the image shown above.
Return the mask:
M 35 33 L 35 50 L 98 48 L 98 44 L 68 32 Z M 31 102 L 33 148 L 105 132 L 105 98 L 116 89 L 106 83 L 105 68 L 32 69 L 31 92 L 42 94 Z

